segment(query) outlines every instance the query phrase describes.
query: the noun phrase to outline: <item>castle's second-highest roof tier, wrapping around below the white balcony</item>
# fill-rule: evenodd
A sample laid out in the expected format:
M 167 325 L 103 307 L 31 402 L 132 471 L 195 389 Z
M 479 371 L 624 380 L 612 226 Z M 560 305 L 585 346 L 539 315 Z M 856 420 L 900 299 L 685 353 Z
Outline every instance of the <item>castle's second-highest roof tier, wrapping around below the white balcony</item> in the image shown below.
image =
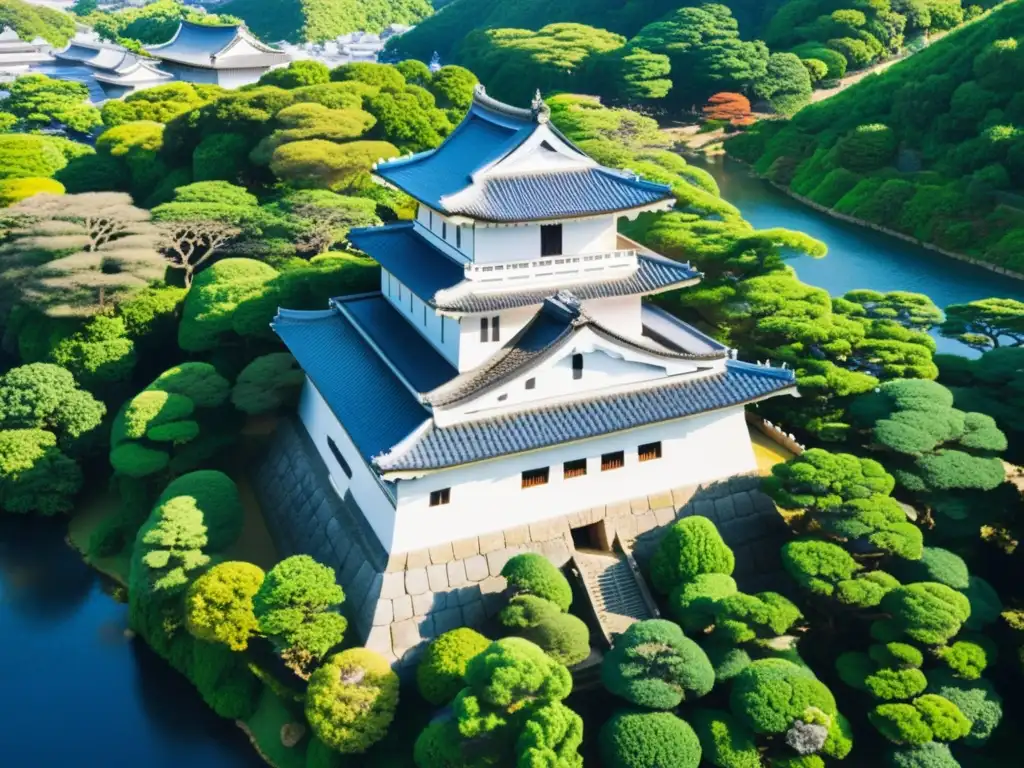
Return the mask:
M 497 290 L 465 280 L 462 265 L 416 231 L 413 222 L 352 229 L 348 240 L 369 254 L 402 285 L 427 303 L 450 312 L 493 312 L 544 303 L 551 288 Z M 626 275 L 577 283 L 564 287 L 583 300 L 612 296 L 643 296 L 696 282 L 700 273 L 664 256 L 639 254 L 638 268 Z

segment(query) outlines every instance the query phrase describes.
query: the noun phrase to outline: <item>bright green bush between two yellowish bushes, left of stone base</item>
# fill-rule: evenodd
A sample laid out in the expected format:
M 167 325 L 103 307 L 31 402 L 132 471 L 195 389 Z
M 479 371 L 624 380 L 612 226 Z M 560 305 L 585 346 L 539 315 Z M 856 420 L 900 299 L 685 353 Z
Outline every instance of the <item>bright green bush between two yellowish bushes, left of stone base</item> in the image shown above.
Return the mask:
M 344 600 L 333 568 L 294 555 L 267 571 L 253 608 L 260 632 L 301 670 L 341 642 L 348 623 L 337 609 Z

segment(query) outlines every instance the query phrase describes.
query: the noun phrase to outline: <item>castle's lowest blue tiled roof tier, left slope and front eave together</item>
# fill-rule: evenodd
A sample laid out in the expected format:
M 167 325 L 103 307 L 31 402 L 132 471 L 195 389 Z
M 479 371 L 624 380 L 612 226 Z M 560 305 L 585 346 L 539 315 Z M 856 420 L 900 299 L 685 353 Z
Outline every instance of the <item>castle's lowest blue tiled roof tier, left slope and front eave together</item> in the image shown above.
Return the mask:
M 713 374 L 682 374 L 628 392 L 438 427 L 406 382 L 419 388 L 454 369 L 437 365 L 432 373 L 417 372 L 429 347 L 422 337 L 388 343 L 381 331 L 371 343 L 360 328 L 367 323 L 369 329 L 371 322 L 386 316 L 377 314 L 381 311 L 377 301 L 386 300 L 350 298 L 338 301 L 340 308 L 325 311 L 282 309 L 273 329 L 360 455 L 381 472 L 441 469 L 495 459 L 752 402 L 791 391 L 796 385 L 791 371 L 730 359 Z M 353 307 L 360 308 L 353 311 Z M 557 325 L 539 333 L 539 343 L 542 336 L 557 338 L 556 329 Z

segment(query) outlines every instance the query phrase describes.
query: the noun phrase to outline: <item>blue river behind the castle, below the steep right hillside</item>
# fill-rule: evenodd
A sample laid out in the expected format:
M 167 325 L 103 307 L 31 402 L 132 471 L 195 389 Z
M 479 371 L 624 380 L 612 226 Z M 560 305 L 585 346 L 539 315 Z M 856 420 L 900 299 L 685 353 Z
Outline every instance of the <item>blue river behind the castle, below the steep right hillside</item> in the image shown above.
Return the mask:
M 791 263 L 801 280 L 824 288 L 833 296 L 854 288 L 871 288 L 923 293 L 940 307 L 989 297 L 1024 301 L 1024 281 L 825 216 L 753 177 L 744 166 L 728 158 L 693 162 L 715 176 L 722 197 L 754 226 L 797 229 L 828 246 L 823 259 L 801 256 Z M 973 354 L 956 341 L 938 337 L 936 341 L 940 351 Z

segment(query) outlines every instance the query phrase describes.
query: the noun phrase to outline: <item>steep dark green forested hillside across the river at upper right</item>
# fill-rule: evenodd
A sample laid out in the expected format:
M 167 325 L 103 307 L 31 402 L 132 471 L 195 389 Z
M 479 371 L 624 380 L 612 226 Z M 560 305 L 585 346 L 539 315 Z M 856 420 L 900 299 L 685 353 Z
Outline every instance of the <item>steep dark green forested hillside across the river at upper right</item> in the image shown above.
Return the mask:
M 1024 4 L 727 148 L 834 210 L 1024 271 Z

